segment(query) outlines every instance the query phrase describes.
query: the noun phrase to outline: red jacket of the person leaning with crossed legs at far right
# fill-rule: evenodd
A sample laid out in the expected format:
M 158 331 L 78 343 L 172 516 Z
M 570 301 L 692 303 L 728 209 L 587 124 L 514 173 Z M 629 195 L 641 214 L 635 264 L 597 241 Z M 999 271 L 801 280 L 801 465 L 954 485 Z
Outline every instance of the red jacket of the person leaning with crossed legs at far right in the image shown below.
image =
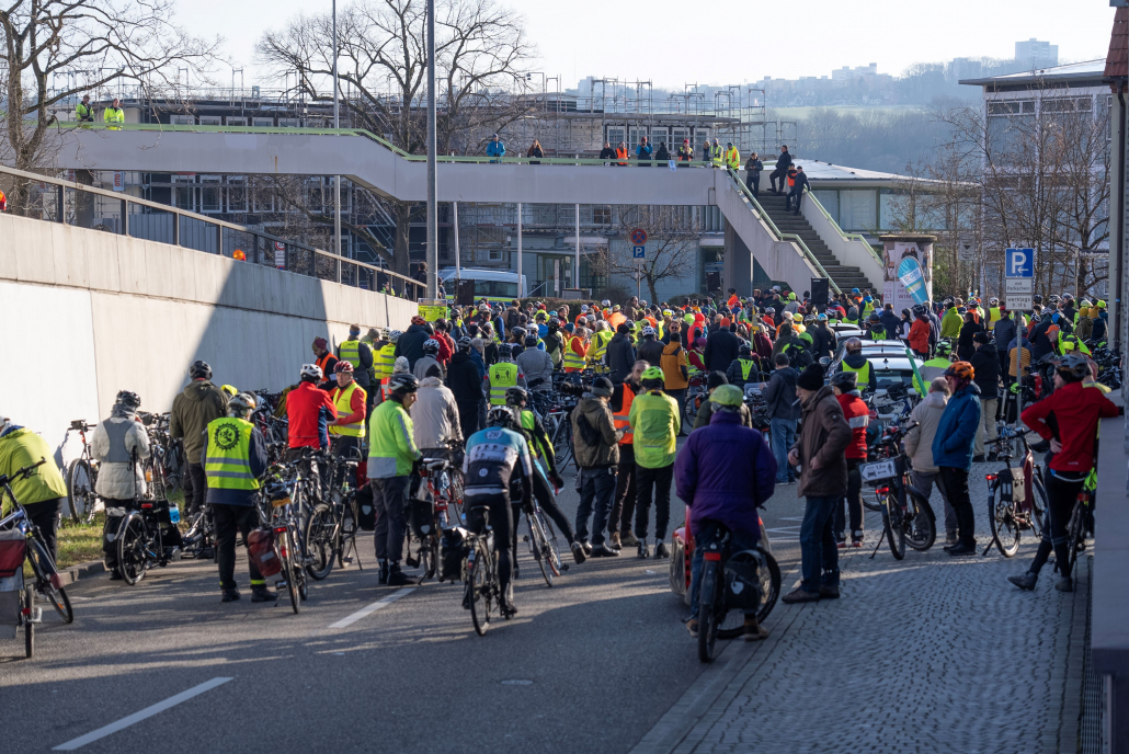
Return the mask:
M 1069 383 L 1024 409 L 1019 418 L 1044 440 L 1058 437 L 1062 444 L 1062 450 L 1051 459 L 1052 470 L 1087 474 L 1094 467 L 1097 421 L 1117 415 L 1117 405 L 1100 389 Z M 1058 424 L 1057 432 L 1052 422 Z

